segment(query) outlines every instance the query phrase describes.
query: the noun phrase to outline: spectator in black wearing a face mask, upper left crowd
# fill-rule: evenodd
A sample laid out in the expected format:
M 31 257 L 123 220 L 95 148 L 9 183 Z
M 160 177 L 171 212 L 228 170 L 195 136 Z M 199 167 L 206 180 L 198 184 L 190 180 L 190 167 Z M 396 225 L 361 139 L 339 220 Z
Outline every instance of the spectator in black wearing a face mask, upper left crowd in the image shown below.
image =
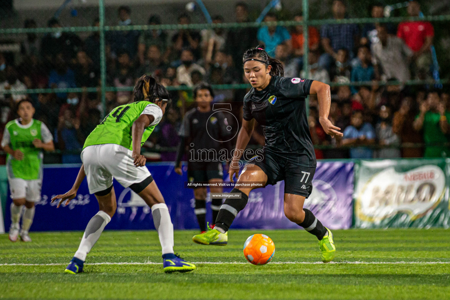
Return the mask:
M 47 22 L 48 27 L 60 28 L 58 19 L 51 18 Z M 58 54 L 63 54 L 63 60 L 66 63 L 72 63 L 76 53 L 83 48 L 83 43 L 78 36 L 71 32 L 49 32 L 42 38 L 40 51 L 44 58 L 44 64 L 52 66 L 54 58 Z M 55 66 L 56 67 L 56 66 Z

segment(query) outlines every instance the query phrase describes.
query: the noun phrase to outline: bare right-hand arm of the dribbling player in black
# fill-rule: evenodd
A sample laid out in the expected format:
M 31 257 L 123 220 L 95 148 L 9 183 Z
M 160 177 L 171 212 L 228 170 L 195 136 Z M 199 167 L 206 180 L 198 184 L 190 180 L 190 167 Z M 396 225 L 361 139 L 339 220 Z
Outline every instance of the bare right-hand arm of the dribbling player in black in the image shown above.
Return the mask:
M 310 88 L 310 94 L 316 94 L 319 101 L 319 122 L 324 128 L 326 134 L 331 137 L 342 136 L 342 132 L 339 127 L 334 126 L 328 119 L 331 105 L 331 92 L 330 86 L 320 81 L 313 81 Z

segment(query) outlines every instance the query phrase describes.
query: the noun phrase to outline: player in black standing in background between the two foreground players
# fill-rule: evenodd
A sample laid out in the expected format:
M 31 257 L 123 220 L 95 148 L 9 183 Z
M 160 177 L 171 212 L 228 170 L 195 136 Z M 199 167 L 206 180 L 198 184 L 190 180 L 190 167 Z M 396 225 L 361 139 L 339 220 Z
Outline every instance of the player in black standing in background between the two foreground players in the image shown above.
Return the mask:
M 184 115 L 183 123 L 179 130 L 180 145 L 175 161 L 175 172 L 182 175 L 181 158 L 185 145 L 189 148 L 188 180 L 190 182 L 223 182 L 222 162 L 219 161 L 221 149 L 229 148 L 229 121 L 222 112 L 213 112 L 211 102 L 214 92 L 211 85 L 201 82 L 194 87 L 194 100 L 197 107 L 189 110 Z M 231 121 L 231 120 L 230 120 Z M 207 130 L 208 126 L 208 130 Z M 223 142 L 226 141 L 226 142 Z M 203 155 L 204 153 L 204 155 Z M 211 153 L 215 157 L 211 157 Z M 193 157 L 191 157 L 193 156 Z M 211 193 L 222 193 L 223 188 L 210 188 Z M 206 188 L 194 188 L 195 209 L 200 231 L 206 231 Z M 216 224 L 217 214 L 223 199 L 212 198 L 212 226 Z

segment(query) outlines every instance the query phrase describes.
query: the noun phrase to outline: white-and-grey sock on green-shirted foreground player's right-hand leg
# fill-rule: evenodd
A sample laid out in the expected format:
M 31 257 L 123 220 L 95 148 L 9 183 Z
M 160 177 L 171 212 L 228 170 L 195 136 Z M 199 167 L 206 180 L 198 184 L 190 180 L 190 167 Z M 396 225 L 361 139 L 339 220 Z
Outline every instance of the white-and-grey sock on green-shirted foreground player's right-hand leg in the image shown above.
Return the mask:
M 166 203 L 153 205 L 152 215 L 161 243 L 162 254 L 173 253 L 173 224 Z

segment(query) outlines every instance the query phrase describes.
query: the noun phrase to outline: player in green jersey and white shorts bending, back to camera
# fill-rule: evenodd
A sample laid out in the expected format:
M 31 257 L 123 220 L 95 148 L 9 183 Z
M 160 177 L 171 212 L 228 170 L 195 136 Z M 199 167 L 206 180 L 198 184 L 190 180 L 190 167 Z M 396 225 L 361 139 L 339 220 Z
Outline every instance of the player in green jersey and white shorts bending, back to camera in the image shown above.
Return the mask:
M 141 146 L 161 121 L 170 106 L 169 93 L 152 76 L 141 76 L 133 90 L 136 102 L 114 108 L 87 137 L 81 152 L 78 176 L 70 191 L 57 195 L 52 202 L 61 199 L 66 205 L 76 196 L 86 177 L 89 193 L 99 201 L 99 212 L 90 219 L 80 246 L 64 272 L 83 271 L 86 255 L 98 241 L 106 224 L 116 212 L 116 194 L 112 187 L 115 178 L 123 187 L 130 188 L 152 208 L 153 223 L 162 246 L 164 272 L 188 272 L 195 265 L 188 263 L 173 252 L 173 225 L 169 210 L 152 175 L 145 167 Z

